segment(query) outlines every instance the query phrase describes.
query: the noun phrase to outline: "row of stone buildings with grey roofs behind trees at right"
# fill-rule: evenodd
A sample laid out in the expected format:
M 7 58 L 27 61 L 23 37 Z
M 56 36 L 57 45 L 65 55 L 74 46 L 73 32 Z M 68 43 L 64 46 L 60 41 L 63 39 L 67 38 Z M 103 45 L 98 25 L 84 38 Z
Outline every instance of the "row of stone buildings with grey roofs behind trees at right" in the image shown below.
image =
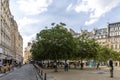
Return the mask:
M 109 23 L 107 27 L 93 29 L 91 32 L 81 30 L 80 34 L 87 34 L 96 39 L 100 45 L 106 45 L 115 51 L 120 51 L 120 22 Z

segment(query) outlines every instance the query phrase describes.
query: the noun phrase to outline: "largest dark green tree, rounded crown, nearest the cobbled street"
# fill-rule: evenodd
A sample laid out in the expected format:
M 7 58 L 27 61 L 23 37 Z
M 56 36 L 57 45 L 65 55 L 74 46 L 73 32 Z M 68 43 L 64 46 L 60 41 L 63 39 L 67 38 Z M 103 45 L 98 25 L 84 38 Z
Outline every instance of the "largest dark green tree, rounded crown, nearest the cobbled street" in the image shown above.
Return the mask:
M 52 23 L 51 25 L 51 29 L 46 28 L 37 34 L 37 42 L 31 49 L 33 56 L 54 60 L 55 63 L 57 60 L 70 59 L 76 46 L 72 34 L 64 27 L 66 26 L 64 23 Z M 55 71 L 57 71 L 57 67 Z

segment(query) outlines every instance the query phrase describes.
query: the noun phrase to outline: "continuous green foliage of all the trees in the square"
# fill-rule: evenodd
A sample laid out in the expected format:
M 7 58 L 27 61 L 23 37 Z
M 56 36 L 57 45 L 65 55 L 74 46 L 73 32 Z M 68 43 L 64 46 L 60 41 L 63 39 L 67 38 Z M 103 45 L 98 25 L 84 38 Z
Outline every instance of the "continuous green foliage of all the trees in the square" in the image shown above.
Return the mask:
M 51 28 L 46 27 L 37 33 L 36 42 L 31 48 L 34 60 L 120 60 L 119 52 L 99 45 L 86 34 L 73 37 L 65 26 L 65 23 L 52 23 Z

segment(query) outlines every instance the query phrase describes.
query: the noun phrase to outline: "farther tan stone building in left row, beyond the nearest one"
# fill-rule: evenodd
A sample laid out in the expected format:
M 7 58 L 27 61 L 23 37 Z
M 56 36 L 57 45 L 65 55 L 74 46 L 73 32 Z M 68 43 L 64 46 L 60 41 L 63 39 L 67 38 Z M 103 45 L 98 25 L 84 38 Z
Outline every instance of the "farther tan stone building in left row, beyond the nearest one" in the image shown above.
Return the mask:
M 19 31 L 18 31 L 18 25 L 16 23 L 15 20 L 13 20 L 13 46 L 14 46 L 14 51 L 15 51 L 15 59 L 17 61 L 22 61 L 22 57 L 23 57 L 23 39 L 22 36 L 20 35 Z

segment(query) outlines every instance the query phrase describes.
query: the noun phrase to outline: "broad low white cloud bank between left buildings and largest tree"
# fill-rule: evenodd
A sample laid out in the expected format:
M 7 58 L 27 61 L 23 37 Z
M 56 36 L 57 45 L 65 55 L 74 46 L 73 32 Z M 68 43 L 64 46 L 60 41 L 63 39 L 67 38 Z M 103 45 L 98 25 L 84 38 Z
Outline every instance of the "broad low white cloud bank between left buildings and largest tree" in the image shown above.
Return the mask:
M 42 16 L 41 19 L 38 18 L 28 18 L 23 17 L 18 20 L 19 30 L 23 37 L 23 49 L 27 46 L 27 43 L 31 40 L 35 39 L 35 35 L 42 29 L 45 28 L 43 23 L 45 24 L 48 21 L 48 16 Z M 49 22 L 49 21 L 48 21 Z M 36 26 L 32 26 L 36 24 Z M 39 25 L 39 26 L 37 26 Z

